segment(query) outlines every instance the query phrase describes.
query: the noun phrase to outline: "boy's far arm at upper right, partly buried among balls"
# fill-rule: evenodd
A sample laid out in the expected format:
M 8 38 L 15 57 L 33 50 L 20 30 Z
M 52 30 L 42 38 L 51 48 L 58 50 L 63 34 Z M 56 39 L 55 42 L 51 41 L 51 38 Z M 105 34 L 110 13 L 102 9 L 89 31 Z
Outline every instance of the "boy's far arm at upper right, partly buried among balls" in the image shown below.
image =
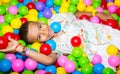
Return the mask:
M 79 18 L 81 15 L 86 14 L 88 16 L 92 16 L 91 12 L 76 12 L 75 16 L 77 18 Z M 107 20 L 107 19 L 114 19 L 110 14 L 105 14 L 105 13 L 100 13 L 100 12 L 96 12 L 96 16 L 98 16 L 100 19 L 102 20 Z

